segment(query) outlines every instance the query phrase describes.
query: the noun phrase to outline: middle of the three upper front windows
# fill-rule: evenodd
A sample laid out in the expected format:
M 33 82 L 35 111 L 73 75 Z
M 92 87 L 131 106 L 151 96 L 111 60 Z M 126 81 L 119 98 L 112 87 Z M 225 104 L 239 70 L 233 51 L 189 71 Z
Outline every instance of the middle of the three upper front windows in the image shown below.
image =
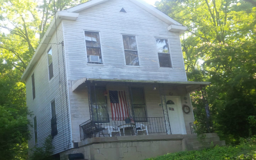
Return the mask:
M 138 66 L 138 51 L 135 36 L 123 35 L 125 62 L 128 66 Z

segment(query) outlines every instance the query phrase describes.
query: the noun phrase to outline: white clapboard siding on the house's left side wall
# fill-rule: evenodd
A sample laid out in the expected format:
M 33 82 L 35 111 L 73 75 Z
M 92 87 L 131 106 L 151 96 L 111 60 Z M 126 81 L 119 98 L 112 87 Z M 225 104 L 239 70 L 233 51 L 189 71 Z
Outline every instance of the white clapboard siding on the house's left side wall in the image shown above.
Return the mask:
M 62 24 L 58 26 L 58 43 L 63 41 Z M 71 133 L 70 133 L 70 117 L 69 117 L 69 104 L 68 99 L 66 101 L 65 82 L 64 78 L 64 66 L 62 56 L 62 45 L 56 41 L 56 32 L 52 35 L 52 39 L 49 42 L 46 50 L 38 60 L 37 64 L 33 68 L 32 72 L 26 80 L 26 98 L 28 110 L 31 112 L 31 116 L 28 115 L 28 119 L 33 124 L 34 116 L 37 116 L 37 130 L 38 130 L 38 147 L 42 147 L 45 138 L 51 134 L 51 105 L 50 102 L 55 99 L 56 102 L 56 116 L 58 135 L 52 140 L 54 145 L 54 154 L 63 152 L 71 147 Z M 57 48 L 58 47 L 58 48 Z M 48 57 L 47 52 L 52 48 L 52 60 L 54 77 L 49 81 L 48 74 Z M 58 57 L 59 55 L 59 57 Z M 65 56 L 64 56 L 65 58 Z M 65 62 L 65 59 L 64 59 Z M 60 65 L 60 76 L 59 66 Z M 35 92 L 36 98 L 33 100 L 32 96 L 32 80 L 31 76 L 34 73 L 35 78 Z M 60 80 L 59 80 L 60 78 Z M 59 81 L 62 82 L 62 87 L 59 87 Z M 68 87 L 66 87 L 68 92 Z M 68 107 L 66 106 L 68 105 Z M 28 141 L 30 148 L 29 154 L 32 154 L 32 148 L 34 147 L 34 128 L 30 128 L 31 139 Z M 66 148 L 66 149 L 65 149 Z

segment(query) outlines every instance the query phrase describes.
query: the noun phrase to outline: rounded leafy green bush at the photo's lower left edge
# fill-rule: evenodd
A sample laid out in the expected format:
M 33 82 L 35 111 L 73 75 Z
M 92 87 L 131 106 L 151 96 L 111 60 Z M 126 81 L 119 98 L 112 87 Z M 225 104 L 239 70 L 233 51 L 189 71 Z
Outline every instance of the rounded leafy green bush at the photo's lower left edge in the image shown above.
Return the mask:
M 26 117 L 17 113 L 18 110 L 0 106 L 1 160 L 26 159 L 29 123 Z

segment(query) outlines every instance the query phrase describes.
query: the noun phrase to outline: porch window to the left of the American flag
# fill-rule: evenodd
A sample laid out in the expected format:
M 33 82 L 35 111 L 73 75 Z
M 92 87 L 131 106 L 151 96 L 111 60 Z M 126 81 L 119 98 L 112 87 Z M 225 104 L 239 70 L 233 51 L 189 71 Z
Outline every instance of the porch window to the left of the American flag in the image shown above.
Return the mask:
M 91 100 L 92 100 L 92 113 L 94 121 L 96 122 L 108 122 L 108 107 L 106 102 L 106 96 L 104 95 L 105 88 L 91 88 Z M 96 100 L 95 100 L 96 95 Z M 97 102 L 97 103 L 96 103 Z M 97 104 L 97 108 L 96 108 Z M 97 120 L 98 112 L 98 120 Z

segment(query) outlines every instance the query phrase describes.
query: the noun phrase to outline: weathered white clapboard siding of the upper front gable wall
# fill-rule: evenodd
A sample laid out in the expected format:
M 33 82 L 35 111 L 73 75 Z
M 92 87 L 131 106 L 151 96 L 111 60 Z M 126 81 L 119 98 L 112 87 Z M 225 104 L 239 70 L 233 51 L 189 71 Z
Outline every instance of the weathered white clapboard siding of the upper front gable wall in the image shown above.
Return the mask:
M 127 13 L 120 10 L 124 8 Z M 186 81 L 178 33 L 129 0 L 109 0 L 63 20 L 68 80 L 122 78 Z M 84 30 L 100 32 L 104 65 L 87 64 Z M 121 34 L 136 35 L 140 67 L 125 66 Z M 159 68 L 155 38 L 168 38 L 174 68 Z

